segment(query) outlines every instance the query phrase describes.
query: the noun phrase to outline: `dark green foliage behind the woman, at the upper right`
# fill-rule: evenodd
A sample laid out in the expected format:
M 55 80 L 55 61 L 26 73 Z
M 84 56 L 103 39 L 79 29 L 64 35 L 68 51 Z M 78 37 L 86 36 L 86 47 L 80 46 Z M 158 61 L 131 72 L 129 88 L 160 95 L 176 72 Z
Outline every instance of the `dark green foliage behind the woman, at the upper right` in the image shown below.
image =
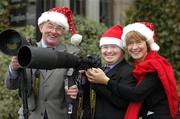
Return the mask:
M 150 21 L 155 25 L 159 53 L 173 65 L 180 79 L 180 4 L 179 0 L 136 0 L 127 13 L 127 23 Z M 178 53 L 179 51 L 179 53 Z

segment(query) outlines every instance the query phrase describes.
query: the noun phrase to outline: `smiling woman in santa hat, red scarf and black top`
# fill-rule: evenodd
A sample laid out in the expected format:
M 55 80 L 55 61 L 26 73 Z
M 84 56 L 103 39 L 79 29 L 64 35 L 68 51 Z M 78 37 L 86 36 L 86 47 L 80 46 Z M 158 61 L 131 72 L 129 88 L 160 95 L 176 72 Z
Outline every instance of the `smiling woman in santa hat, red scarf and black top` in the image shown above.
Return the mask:
M 97 68 L 86 72 L 90 81 L 107 85 L 117 95 L 131 100 L 124 119 L 175 119 L 178 97 L 173 68 L 169 61 L 159 55 L 155 42 L 153 24 L 136 22 L 124 27 L 124 48 L 134 60 L 132 75 L 137 80 L 135 87 L 117 84 Z

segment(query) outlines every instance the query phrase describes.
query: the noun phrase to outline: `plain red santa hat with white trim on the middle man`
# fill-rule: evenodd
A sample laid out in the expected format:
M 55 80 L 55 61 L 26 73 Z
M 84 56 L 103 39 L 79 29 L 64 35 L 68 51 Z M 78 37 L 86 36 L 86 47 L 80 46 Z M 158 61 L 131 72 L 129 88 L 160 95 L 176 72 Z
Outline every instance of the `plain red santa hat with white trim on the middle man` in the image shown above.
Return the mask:
M 109 28 L 101 37 L 99 46 L 114 44 L 123 49 L 123 42 L 120 39 L 122 35 L 122 26 L 114 25 Z

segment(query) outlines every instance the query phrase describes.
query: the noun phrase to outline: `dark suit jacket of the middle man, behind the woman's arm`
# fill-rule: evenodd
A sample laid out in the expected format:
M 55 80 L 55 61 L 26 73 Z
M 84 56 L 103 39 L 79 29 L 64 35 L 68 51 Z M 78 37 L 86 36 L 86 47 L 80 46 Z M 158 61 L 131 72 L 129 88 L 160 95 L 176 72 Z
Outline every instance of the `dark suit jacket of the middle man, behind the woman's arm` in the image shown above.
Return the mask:
M 132 67 L 123 59 L 106 75 L 116 84 L 135 86 L 136 81 L 131 75 Z M 115 84 L 115 85 L 116 85 Z M 95 119 L 123 119 L 129 101 L 118 95 L 106 85 L 94 85 L 96 91 Z

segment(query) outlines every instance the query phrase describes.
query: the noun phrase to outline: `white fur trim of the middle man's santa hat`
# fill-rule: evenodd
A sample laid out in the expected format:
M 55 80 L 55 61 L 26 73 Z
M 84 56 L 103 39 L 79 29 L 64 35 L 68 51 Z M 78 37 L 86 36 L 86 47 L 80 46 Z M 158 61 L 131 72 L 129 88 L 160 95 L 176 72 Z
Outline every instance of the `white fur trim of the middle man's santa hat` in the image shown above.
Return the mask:
M 114 38 L 114 37 L 102 37 L 100 39 L 100 43 L 99 43 L 100 47 L 102 45 L 110 45 L 110 44 L 117 45 L 117 46 L 119 46 L 120 48 L 123 49 L 123 42 L 122 42 L 121 39 Z

